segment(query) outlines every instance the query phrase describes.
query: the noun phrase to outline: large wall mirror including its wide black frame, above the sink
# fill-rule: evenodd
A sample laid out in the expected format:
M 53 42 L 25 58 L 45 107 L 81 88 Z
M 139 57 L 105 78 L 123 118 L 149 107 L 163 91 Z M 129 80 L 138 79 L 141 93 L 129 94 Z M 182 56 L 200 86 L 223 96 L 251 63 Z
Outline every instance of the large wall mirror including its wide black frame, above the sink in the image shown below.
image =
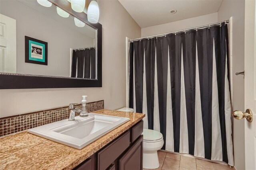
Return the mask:
M 1 18 L 3 18 L 2 15 L 6 15 L 6 22 L 8 22 L 8 18 L 14 18 L 17 28 L 19 28 L 20 25 L 25 25 L 22 28 L 22 33 L 20 33 L 21 31 L 16 31 L 17 54 L 15 56 L 16 58 L 12 60 L 13 63 L 9 63 L 9 67 L 8 64 L 6 64 L 8 61 L 4 58 L 4 55 L 1 54 L 0 89 L 102 87 L 102 25 L 100 23 L 88 22 L 87 14 L 85 12 L 78 13 L 72 10 L 68 0 L 48 1 L 52 3 L 51 8 L 55 10 L 54 12 L 56 14 L 51 13 L 48 7 L 32 4 L 37 3 L 37 1 L 14 0 L 0 2 Z M 91 0 L 86 0 L 87 5 L 85 6 L 88 7 L 90 1 Z M 4 4 L 4 2 L 6 4 Z M 8 5 L 12 6 L 12 9 L 8 9 Z M 24 8 L 26 9 L 24 9 L 22 15 L 28 15 L 23 17 L 28 20 L 28 24 L 24 24 L 26 21 L 20 21 L 18 16 L 14 15 L 14 13 L 17 13 L 15 6 L 19 8 L 20 13 L 22 13 L 20 8 L 25 6 Z M 47 10 L 46 14 L 41 18 L 41 16 L 35 17 L 36 14 L 28 13 L 30 8 L 34 8 L 34 6 L 36 6 L 36 8 L 32 9 L 34 10 L 32 12 Z M 69 19 L 68 17 L 63 18 L 58 16 L 60 15 L 58 10 L 68 15 Z M 9 16 L 7 14 L 9 14 Z M 52 20 L 50 24 L 45 24 L 45 20 L 43 20 L 47 15 L 48 18 Z M 68 20 L 72 20 L 72 23 L 75 22 L 75 24 L 69 24 Z M 82 24 L 82 27 L 76 24 L 76 20 L 80 22 L 78 24 Z M 54 24 L 57 23 L 60 25 L 54 26 Z M 46 27 L 42 28 L 43 31 L 38 31 L 41 29 L 42 25 Z M 66 28 L 69 28 L 70 31 L 65 32 L 64 30 Z M 6 26 L 5 29 L 10 30 L 12 28 Z M 54 33 L 54 30 L 57 32 Z M 74 32 L 74 30 L 76 32 Z M 58 35 L 57 38 L 51 38 L 53 35 L 57 35 L 61 32 L 64 33 Z M 72 37 L 68 37 L 69 35 Z M 95 38 L 93 37 L 94 35 Z M 75 36 L 82 37 L 81 43 L 79 43 L 80 40 Z M 50 38 L 47 39 L 46 37 Z M 71 41 L 72 39 L 74 39 L 74 41 Z M 47 48 L 48 51 L 45 51 Z M 86 58 L 85 56 L 87 55 L 90 57 Z M 82 59 L 81 56 L 83 57 Z M 64 68 L 66 70 L 63 70 Z

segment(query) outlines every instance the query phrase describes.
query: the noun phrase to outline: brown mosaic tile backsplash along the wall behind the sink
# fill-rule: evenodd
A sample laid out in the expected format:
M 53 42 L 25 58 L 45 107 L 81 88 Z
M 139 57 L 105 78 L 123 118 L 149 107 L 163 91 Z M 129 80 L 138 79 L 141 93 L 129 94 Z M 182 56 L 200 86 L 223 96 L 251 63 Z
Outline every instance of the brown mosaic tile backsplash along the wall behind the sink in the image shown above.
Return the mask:
M 89 113 L 104 109 L 104 100 L 88 102 L 86 107 Z M 76 105 L 75 108 L 81 109 L 81 104 Z M 76 113 L 76 116 L 79 114 L 79 112 Z M 55 109 L 36 111 L 33 113 L 2 117 L 0 118 L 0 137 L 63 119 L 68 119 L 68 116 L 68 106 L 66 106 Z

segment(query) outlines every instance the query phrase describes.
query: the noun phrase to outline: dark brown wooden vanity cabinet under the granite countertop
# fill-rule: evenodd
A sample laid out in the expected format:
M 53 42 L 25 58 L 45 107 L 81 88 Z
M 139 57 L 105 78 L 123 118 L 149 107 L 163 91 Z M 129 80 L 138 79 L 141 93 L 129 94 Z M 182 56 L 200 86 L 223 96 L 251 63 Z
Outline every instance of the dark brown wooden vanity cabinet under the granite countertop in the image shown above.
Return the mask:
M 142 170 L 143 121 L 78 165 L 76 170 Z

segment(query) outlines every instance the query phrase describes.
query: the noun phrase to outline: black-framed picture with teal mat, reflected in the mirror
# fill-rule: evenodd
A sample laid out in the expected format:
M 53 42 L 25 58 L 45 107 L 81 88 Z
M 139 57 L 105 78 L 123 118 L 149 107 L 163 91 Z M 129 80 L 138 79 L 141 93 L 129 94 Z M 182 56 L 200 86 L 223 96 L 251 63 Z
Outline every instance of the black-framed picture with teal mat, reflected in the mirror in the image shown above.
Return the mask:
M 25 63 L 47 65 L 48 43 L 25 36 Z

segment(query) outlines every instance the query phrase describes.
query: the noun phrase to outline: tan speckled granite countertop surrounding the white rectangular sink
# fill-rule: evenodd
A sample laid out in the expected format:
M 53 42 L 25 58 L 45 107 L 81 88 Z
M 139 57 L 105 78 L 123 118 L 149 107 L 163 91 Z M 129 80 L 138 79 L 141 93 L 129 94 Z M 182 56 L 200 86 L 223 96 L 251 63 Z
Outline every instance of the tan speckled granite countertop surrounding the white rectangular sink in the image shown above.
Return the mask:
M 0 170 L 72 169 L 145 117 L 145 114 L 141 113 L 108 109 L 94 111 L 94 113 L 128 117 L 130 121 L 80 150 L 32 135 L 27 131 L 1 137 Z

